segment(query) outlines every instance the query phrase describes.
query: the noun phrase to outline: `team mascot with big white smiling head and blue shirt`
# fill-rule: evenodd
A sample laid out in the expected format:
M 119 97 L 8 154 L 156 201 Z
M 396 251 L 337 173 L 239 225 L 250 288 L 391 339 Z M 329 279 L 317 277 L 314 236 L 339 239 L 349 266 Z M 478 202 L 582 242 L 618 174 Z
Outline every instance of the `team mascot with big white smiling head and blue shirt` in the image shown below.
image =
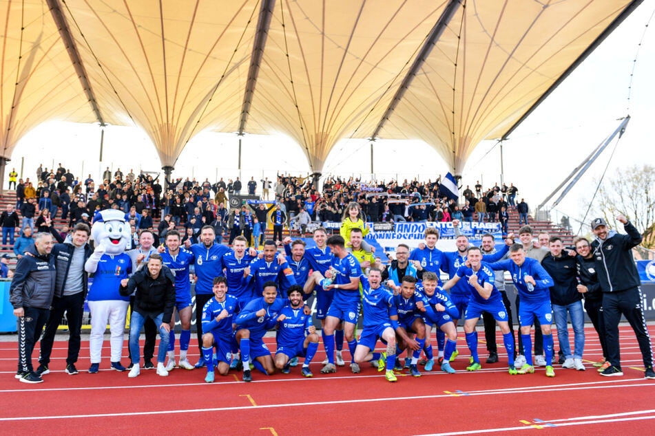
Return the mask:
M 129 296 L 118 293 L 121 280 L 132 273 L 132 260 L 125 253 L 130 239 L 129 223 L 121 210 L 107 209 L 97 212 L 93 219 L 91 237 L 95 250 L 86 261 L 84 268 L 93 273 L 93 283 L 87 296 L 91 311 L 91 353 L 90 373 L 98 372 L 100 366 L 103 334 L 110 325 L 112 345 L 112 369 L 125 371 L 121 365 L 123 351 L 123 330 L 129 306 Z

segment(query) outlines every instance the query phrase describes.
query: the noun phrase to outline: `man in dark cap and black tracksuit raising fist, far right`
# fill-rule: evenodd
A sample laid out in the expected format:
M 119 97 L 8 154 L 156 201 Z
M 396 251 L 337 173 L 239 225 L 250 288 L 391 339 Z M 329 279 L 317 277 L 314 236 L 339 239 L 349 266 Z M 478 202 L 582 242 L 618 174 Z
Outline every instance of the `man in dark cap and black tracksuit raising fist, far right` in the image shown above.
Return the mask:
M 592 230 L 596 235 L 596 239 L 592 242 L 592 253 L 596 259 L 596 273 L 603 290 L 607 360 L 612 364 L 601 375 L 623 375 L 618 345 L 618 322 L 623 314 L 639 342 L 646 369 L 645 378 L 655 379 L 653 349 L 646 329 L 643 298 L 639 287 L 641 281 L 632 257 L 632 248 L 641 243 L 642 237 L 623 215 L 618 215 L 616 219 L 623 223 L 627 235 L 619 235 L 607 228 L 607 223 L 602 218 L 592 221 Z

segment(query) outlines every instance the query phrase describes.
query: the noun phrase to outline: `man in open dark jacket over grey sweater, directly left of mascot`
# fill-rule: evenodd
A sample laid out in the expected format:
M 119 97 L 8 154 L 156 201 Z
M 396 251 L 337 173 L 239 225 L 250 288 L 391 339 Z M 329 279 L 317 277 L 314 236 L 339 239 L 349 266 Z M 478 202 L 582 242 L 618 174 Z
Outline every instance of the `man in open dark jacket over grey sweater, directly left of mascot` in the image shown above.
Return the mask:
M 56 232 L 52 232 L 53 236 Z M 80 333 L 82 329 L 82 316 L 84 314 L 84 299 L 87 294 L 89 274 L 84 269 L 87 259 L 93 254 L 87 241 L 91 230 L 83 223 L 73 228 L 70 241 L 58 243 L 52 249 L 56 279 L 54 282 L 54 298 L 48 323 L 45 325 L 43 338 L 41 338 L 41 353 L 39 354 L 39 368 L 37 374 L 50 372 L 50 353 L 57 327 L 66 314 L 68 325 L 68 356 L 66 358 L 67 374 L 77 373 L 75 363 L 80 354 Z M 61 237 L 56 235 L 61 241 Z

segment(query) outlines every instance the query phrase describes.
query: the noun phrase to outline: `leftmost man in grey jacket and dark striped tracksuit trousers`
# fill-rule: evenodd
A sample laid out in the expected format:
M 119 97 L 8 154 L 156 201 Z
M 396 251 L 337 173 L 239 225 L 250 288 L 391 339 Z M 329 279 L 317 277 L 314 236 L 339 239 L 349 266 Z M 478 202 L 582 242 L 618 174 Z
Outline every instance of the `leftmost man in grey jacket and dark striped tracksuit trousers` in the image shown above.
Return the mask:
M 54 259 L 50 256 L 54 242 L 50 233 L 34 237 L 34 246 L 25 250 L 16 265 L 9 288 L 10 303 L 18 317 L 18 371 L 16 378 L 23 383 L 41 383 L 43 379 L 33 371 L 32 351 L 48 320 L 54 295 Z

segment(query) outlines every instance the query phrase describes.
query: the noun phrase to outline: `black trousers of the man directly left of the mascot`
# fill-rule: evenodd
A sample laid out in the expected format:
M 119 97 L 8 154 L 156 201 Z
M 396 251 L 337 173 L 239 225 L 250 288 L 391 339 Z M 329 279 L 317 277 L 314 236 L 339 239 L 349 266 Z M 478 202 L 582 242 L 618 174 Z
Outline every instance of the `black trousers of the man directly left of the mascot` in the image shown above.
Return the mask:
M 80 331 L 82 329 L 82 316 L 84 313 L 84 292 L 78 292 L 73 295 L 54 297 L 52 299 L 52 309 L 48 322 L 45 324 L 43 338 L 41 338 L 41 353 L 39 354 L 39 363 L 49 364 L 50 354 L 52 353 L 52 343 L 57 327 L 66 314 L 68 322 L 68 357 L 66 364 L 77 362 L 80 355 Z

